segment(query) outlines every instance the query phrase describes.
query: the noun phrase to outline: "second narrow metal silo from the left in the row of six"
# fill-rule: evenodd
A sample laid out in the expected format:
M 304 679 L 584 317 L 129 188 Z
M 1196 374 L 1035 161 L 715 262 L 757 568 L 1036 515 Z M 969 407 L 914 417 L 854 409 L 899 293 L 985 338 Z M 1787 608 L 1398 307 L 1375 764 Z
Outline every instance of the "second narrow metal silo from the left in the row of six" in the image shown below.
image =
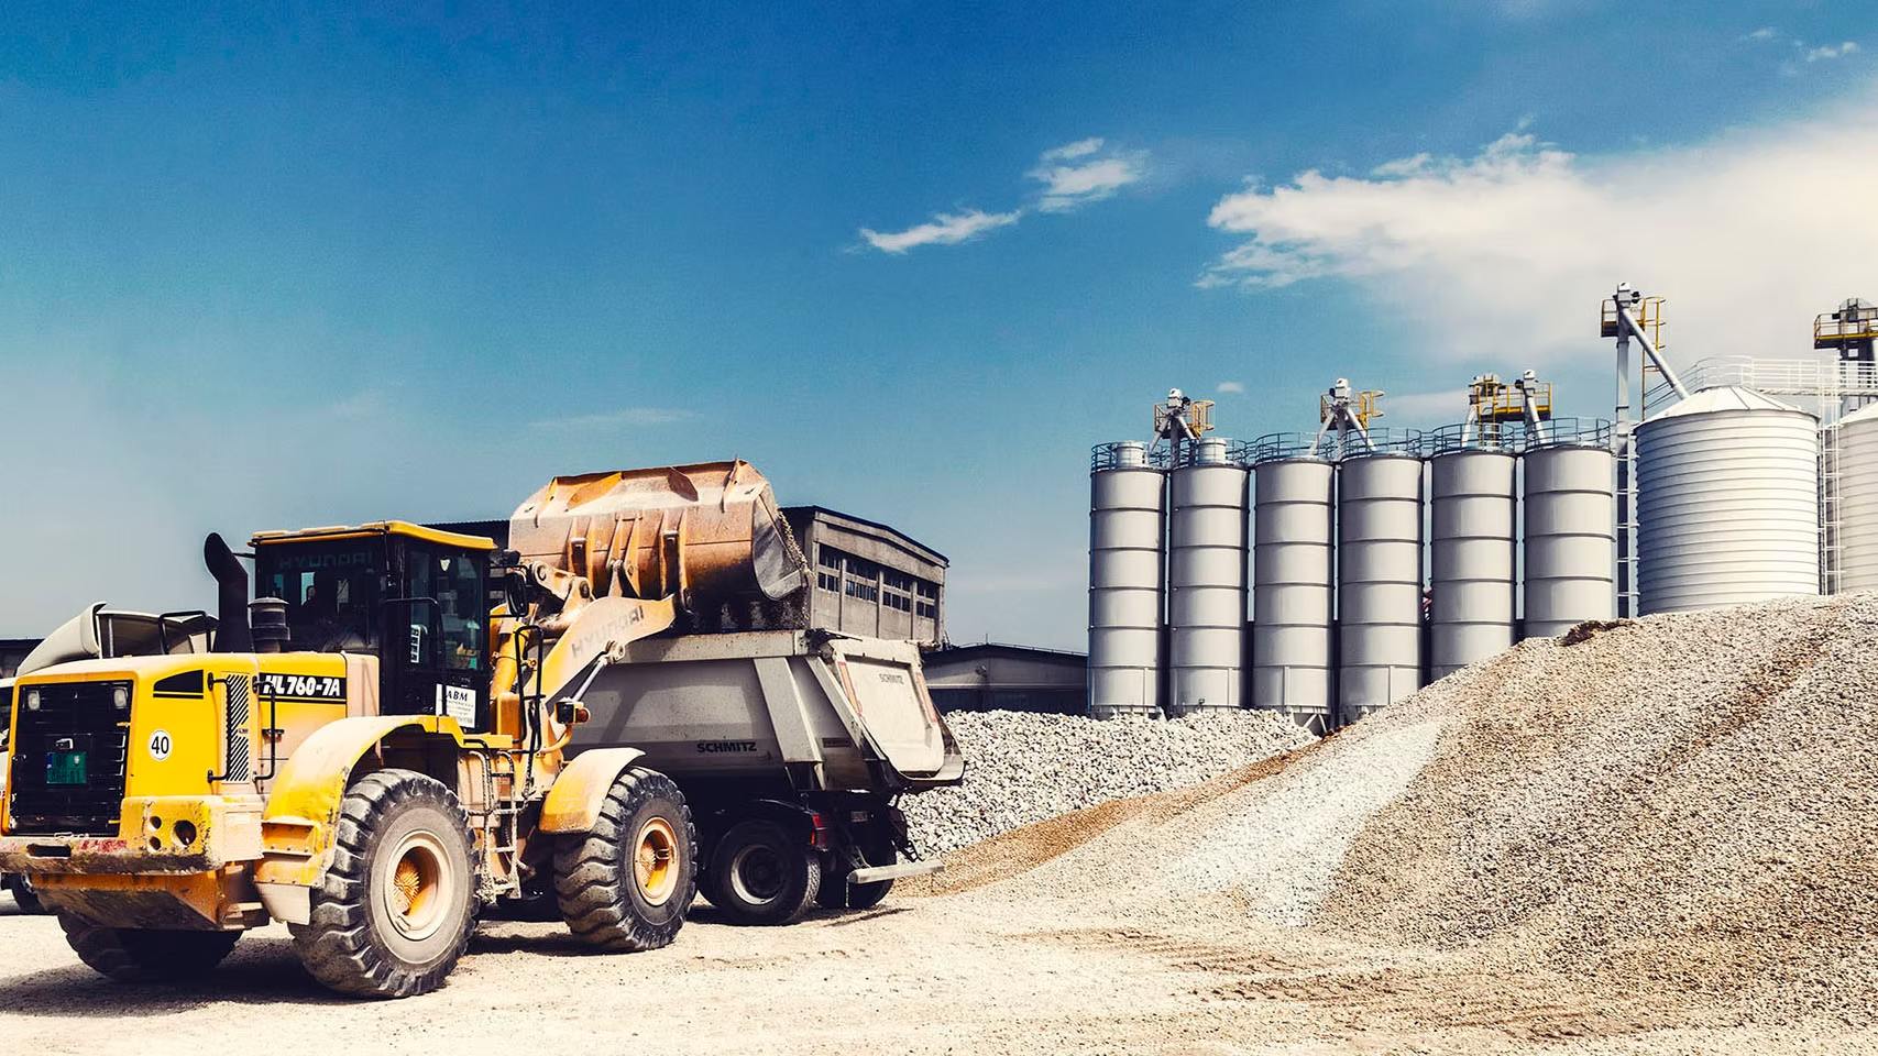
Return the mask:
M 1239 707 L 1245 656 L 1245 466 L 1193 442 L 1168 474 L 1170 714 Z

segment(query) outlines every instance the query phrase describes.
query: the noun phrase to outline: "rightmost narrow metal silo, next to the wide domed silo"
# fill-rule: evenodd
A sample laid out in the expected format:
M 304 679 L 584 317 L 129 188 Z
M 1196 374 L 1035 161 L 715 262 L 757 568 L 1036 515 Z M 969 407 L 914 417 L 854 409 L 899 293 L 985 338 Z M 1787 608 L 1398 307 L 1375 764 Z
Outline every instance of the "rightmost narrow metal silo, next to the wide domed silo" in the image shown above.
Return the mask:
M 1525 635 L 1617 618 L 1617 455 L 1609 423 L 1555 423 L 1525 466 Z

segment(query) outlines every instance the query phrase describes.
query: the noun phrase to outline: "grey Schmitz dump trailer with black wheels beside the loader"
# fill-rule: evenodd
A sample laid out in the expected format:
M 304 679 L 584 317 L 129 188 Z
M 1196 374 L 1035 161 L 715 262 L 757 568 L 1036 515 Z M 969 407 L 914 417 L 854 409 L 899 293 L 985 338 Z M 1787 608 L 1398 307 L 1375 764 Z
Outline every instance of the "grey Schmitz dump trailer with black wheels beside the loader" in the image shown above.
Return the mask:
M 727 917 L 864 908 L 933 866 L 892 806 L 965 763 L 913 643 L 746 631 L 633 643 L 582 693 L 573 752 L 633 746 L 699 814 L 702 891 Z

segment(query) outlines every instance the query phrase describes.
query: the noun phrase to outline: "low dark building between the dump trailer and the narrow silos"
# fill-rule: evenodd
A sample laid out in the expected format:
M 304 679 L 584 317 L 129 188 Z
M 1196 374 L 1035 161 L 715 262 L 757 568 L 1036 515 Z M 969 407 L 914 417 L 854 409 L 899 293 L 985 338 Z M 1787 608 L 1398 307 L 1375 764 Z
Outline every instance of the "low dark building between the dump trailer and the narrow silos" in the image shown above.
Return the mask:
M 926 688 L 941 712 L 1084 714 L 1089 658 L 1080 652 L 1003 643 L 928 652 Z

